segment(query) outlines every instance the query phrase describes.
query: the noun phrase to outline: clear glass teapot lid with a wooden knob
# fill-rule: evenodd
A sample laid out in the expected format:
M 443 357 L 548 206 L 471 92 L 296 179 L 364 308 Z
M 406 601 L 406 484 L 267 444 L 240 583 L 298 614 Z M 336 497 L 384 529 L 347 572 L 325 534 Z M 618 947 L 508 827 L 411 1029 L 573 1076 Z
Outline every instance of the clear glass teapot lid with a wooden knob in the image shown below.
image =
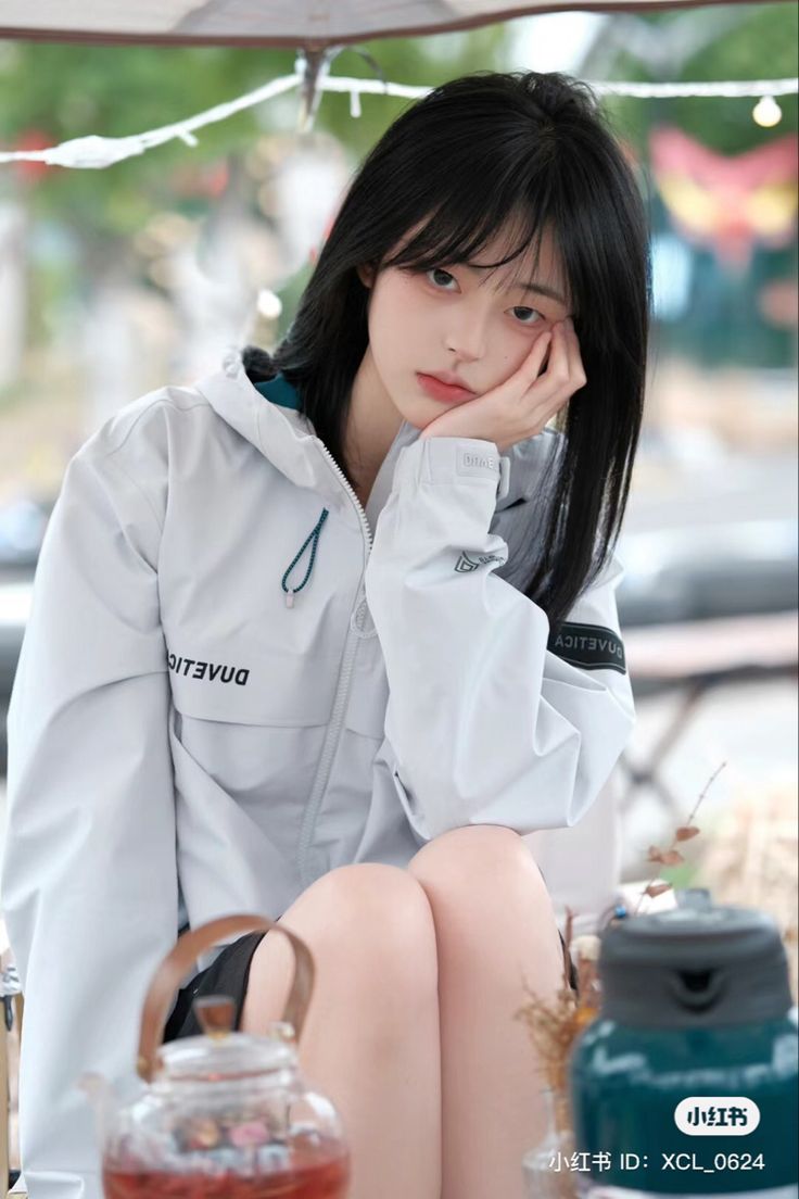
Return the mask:
M 273 1020 L 265 1035 L 253 1036 L 232 1030 L 234 1004 L 226 995 L 202 996 L 192 1006 L 202 1034 L 161 1046 L 162 1080 L 232 1081 L 297 1068 L 295 1030 L 285 1020 Z

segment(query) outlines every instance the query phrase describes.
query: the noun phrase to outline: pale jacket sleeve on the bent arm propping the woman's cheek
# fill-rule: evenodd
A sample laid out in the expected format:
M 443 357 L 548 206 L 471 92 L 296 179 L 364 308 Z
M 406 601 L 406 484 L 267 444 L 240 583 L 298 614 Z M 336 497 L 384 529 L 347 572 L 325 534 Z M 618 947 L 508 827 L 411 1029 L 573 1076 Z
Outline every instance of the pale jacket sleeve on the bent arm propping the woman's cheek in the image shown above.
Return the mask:
M 394 785 L 425 839 L 470 824 L 522 835 L 576 824 L 634 724 L 618 565 L 579 600 L 571 638 L 551 652 L 545 613 L 494 573 L 508 556 L 489 531 L 500 476 L 491 441 L 402 450 L 367 566 Z

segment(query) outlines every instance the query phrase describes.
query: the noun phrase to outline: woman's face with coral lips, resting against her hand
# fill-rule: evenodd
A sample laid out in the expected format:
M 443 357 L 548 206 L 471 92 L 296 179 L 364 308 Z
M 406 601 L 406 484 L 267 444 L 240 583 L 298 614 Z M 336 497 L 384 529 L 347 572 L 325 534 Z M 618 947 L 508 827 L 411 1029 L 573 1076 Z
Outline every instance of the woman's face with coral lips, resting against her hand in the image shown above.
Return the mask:
M 549 235 L 539 260 L 513 260 L 494 272 L 507 241 L 496 237 L 473 263 L 441 263 L 426 273 L 389 266 L 363 282 L 369 301 L 370 375 L 404 420 L 424 428 L 453 404 L 504 382 L 543 332 L 571 314 L 564 276 Z M 429 376 L 462 384 L 442 393 Z

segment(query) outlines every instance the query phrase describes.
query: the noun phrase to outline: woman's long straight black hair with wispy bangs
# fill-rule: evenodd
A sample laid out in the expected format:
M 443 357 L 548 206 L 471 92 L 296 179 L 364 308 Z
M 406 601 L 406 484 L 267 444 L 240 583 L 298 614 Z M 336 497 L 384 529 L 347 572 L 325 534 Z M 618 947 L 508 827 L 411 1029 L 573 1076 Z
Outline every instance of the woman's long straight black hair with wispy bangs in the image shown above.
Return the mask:
M 369 299 L 357 267 L 466 263 L 508 229 L 510 252 L 492 266 L 521 263 L 551 233 L 588 379 L 561 414 L 534 552 L 531 538 L 525 592 L 555 627 L 618 537 L 649 329 L 644 205 L 587 85 L 559 73 L 479 72 L 412 104 L 356 174 L 285 338 L 272 355 L 248 347 L 243 359 L 254 382 L 280 370 L 293 384 L 352 483 L 343 444 Z

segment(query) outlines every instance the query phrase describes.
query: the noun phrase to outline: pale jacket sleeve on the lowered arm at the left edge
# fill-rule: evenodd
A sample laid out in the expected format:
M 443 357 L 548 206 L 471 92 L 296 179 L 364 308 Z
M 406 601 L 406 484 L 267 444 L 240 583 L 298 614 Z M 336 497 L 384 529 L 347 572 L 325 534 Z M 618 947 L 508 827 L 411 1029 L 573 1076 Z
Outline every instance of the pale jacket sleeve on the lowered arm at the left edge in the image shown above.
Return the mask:
M 77 1084 L 133 1076 L 145 989 L 176 936 L 159 528 L 119 454 L 91 446 L 50 519 L 8 718 L 2 905 L 25 993 L 31 1199 L 101 1199 Z

